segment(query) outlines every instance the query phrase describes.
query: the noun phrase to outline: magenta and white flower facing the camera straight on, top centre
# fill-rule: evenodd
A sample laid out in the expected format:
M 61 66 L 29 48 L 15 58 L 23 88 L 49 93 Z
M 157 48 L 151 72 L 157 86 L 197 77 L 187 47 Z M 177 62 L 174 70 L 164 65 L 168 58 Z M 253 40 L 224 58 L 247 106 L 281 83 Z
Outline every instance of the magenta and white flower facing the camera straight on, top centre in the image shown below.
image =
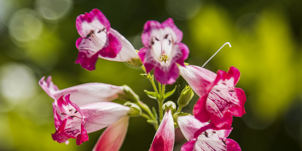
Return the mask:
M 182 31 L 168 18 L 162 24 L 147 21 L 144 25 L 142 42 L 145 47 L 138 55 L 146 67 L 146 72 L 154 69 L 156 80 L 162 84 L 173 84 L 179 75 L 176 63 L 184 65 L 189 49 L 181 43 Z

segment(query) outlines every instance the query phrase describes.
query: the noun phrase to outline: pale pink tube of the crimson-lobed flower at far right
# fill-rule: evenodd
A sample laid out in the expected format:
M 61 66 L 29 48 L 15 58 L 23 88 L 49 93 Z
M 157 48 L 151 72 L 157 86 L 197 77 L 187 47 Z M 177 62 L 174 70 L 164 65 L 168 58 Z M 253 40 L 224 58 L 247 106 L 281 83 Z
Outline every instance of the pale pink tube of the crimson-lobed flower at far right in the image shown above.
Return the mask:
M 215 81 L 216 74 L 199 66 L 179 66 L 180 75 L 188 82 L 199 97 L 207 93 L 207 87 Z M 210 87 L 211 88 L 211 87 Z

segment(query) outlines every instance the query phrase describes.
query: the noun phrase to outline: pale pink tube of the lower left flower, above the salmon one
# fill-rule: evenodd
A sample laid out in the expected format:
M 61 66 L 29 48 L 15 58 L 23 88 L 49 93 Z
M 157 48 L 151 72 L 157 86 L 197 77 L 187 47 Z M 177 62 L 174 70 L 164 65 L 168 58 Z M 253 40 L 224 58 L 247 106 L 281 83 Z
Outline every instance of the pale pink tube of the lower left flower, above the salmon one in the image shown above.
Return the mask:
M 114 102 L 97 102 L 80 106 L 84 127 L 92 133 L 127 116 L 130 108 Z

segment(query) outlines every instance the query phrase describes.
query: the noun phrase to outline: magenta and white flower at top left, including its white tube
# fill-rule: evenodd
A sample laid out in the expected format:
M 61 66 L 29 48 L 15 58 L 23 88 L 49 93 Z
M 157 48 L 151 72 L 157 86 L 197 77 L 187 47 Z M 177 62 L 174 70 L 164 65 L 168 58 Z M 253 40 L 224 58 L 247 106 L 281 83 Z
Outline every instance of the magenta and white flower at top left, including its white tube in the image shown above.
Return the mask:
M 110 27 L 109 21 L 98 9 L 79 15 L 76 29 L 81 36 L 76 40 L 79 49 L 76 63 L 87 70 L 95 69 L 98 58 L 120 62 L 138 58 L 131 43 Z

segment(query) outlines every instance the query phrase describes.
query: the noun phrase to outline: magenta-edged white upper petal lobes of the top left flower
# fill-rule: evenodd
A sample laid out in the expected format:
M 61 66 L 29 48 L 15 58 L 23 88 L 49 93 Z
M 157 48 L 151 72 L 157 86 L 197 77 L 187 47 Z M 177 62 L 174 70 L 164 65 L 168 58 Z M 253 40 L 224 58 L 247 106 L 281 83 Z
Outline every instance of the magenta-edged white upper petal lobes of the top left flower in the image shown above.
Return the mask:
M 102 29 L 103 27 L 108 31 L 110 23 L 104 14 L 98 9 L 93 9 L 89 13 L 79 15 L 76 18 L 76 29 L 81 37 L 86 37 L 91 29 Z

